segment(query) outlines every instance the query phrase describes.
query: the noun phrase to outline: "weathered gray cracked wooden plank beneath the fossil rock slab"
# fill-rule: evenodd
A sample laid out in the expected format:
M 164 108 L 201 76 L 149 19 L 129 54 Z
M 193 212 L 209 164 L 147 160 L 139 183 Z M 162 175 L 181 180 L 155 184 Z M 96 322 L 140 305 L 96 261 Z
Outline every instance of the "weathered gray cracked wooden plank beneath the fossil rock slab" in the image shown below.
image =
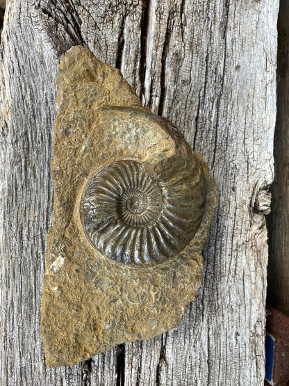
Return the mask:
M 1 42 L 1 385 L 261 385 L 277 0 L 15 0 Z M 45 366 L 40 296 L 52 220 L 60 55 L 120 67 L 220 189 L 204 287 L 177 328 L 75 367 Z M 172 304 L 172 307 L 174 305 Z

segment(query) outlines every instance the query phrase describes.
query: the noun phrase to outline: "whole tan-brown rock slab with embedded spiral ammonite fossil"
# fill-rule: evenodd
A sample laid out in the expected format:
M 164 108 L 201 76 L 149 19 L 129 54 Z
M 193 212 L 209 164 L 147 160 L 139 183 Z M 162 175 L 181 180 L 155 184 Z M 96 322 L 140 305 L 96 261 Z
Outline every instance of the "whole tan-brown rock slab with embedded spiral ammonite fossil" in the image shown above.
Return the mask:
M 206 163 L 85 47 L 60 62 L 41 332 L 75 364 L 181 321 L 217 204 Z

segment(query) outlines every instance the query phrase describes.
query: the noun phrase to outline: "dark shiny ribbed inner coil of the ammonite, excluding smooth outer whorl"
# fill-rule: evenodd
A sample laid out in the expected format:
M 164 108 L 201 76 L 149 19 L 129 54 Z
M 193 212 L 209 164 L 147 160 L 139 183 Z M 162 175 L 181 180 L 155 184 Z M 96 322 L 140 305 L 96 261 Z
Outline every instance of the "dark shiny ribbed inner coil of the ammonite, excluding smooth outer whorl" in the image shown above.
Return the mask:
M 174 257 L 195 235 L 204 211 L 204 195 L 196 190 L 202 176 L 193 172 L 186 171 L 184 186 L 178 175 L 151 177 L 138 161 L 104 166 L 83 191 L 85 236 L 101 254 L 122 264 L 157 264 Z

